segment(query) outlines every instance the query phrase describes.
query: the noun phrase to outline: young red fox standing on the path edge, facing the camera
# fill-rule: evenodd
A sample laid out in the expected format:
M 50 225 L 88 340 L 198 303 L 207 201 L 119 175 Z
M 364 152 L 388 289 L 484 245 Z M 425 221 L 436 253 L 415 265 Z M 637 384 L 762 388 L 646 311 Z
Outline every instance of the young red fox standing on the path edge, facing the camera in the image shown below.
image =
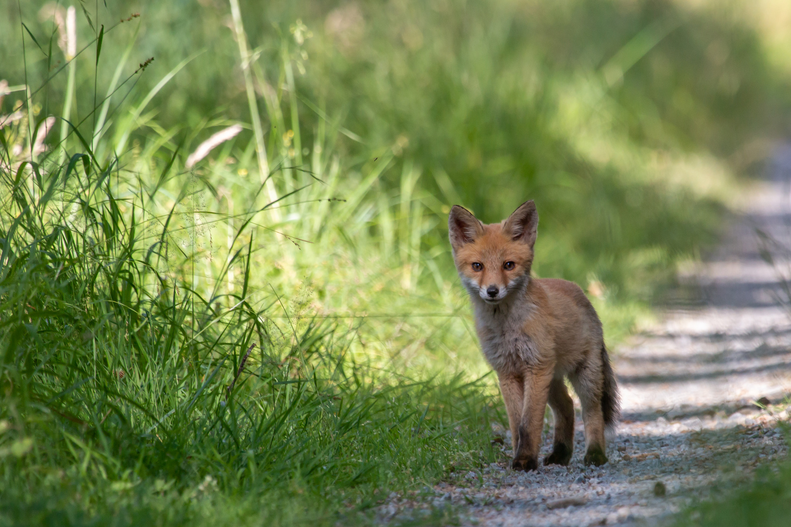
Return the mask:
M 544 465 L 569 464 L 574 406 L 563 377 L 580 397 L 585 465 L 604 465 L 604 429 L 615 427 L 620 397 L 601 322 L 577 284 L 530 277 L 538 223 L 532 200 L 489 225 L 454 205 L 448 218 L 453 260 L 470 293 L 483 355 L 500 381 L 513 469 L 538 469 L 547 402 L 554 413 L 554 447 Z

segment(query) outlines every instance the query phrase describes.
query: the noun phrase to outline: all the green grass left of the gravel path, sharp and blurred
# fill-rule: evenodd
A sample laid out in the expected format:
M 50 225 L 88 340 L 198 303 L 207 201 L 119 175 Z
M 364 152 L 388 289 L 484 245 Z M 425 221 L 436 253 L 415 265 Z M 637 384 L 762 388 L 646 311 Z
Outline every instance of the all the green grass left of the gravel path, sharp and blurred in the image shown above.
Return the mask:
M 241 2 L 232 34 L 224 2 L 139 6 L 76 6 L 68 64 L 43 4 L 0 7 L 30 87 L 0 101 L 2 525 L 370 523 L 476 484 L 505 416 L 448 207 L 535 198 L 536 273 L 615 341 L 788 107 L 738 9 Z M 458 520 L 426 514 L 395 521 Z

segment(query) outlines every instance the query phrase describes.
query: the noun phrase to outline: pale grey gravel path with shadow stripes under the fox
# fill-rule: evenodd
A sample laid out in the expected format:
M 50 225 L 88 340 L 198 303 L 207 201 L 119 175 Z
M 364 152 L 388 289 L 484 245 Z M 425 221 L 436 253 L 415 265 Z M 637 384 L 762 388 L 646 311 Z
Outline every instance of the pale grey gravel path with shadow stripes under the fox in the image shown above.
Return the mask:
M 582 465 L 579 417 L 572 464 L 537 473 L 506 469 L 510 432 L 494 431 L 501 462 L 419 497 L 392 495 L 383 519 L 433 502 L 460 506 L 464 525 L 662 525 L 713 482 L 784 457 L 776 424 L 791 414 L 791 317 L 778 307 L 778 269 L 760 258 L 755 229 L 791 247 L 789 180 L 791 148 L 745 196 L 721 246 L 679 277 L 676 307 L 616 350 L 624 416 L 610 462 Z M 551 433 L 544 437 L 542 456 L 551 450 Z

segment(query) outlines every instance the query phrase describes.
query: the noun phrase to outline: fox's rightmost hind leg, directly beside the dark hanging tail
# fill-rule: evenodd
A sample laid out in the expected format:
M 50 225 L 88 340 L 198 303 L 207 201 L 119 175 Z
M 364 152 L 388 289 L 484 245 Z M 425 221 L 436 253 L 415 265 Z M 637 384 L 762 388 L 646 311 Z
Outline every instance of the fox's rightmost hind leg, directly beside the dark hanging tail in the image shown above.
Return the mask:
M 599 358 L 598 355 L 590 353 L 585 363 L 569 375 L 569 380 L 582 405 L 582 420 L 585 423 L 585 465 L 596 466 L 607 463 L 604 414 L 601 405 L 604 372 Z

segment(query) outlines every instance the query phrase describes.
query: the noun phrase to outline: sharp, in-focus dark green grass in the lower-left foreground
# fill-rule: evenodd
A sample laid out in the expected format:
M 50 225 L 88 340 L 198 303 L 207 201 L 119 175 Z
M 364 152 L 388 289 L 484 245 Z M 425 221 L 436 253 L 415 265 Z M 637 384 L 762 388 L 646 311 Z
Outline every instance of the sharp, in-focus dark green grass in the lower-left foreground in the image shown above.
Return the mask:
M 191 255 L 173 284 L 145 190 L 72 160 L 2 180 L 2 521 L 324 525 L 494 461 L 482 381 L 388 368 L 307 293 L 255 307 L 252 244 L 236 294 L 191 288 Z

